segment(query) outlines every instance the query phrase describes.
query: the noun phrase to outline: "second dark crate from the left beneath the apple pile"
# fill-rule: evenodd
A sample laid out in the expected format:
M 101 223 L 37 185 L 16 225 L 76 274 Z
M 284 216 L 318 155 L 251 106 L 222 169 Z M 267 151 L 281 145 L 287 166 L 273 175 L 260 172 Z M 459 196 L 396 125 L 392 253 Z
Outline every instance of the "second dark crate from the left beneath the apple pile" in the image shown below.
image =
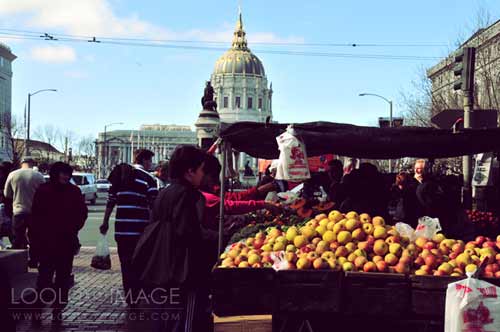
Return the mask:
M 339 312 L 343 275 L 332 270 L 278 271 L 276 312 Z

